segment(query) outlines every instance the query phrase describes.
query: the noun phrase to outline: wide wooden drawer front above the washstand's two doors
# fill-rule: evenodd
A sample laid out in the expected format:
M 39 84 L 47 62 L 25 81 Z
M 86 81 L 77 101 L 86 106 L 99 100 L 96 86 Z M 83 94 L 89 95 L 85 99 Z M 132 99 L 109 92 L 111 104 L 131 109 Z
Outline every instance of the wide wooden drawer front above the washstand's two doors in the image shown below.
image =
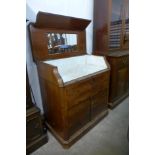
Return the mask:
M 96 95 L 101 90 L 109 87 L 109 72 L 92 76 L 86 81 L 80 81 L 66 87 L 68 109 L 79 104 L 81 101 Z

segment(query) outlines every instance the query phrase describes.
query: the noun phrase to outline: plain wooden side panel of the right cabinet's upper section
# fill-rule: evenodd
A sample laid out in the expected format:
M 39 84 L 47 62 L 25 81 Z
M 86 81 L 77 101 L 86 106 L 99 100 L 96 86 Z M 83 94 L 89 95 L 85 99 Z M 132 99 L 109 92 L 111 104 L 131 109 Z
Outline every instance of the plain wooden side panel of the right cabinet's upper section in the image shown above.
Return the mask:
M 109 0 L 94 0 L 94 51 L 108 50 L 109 9 Z

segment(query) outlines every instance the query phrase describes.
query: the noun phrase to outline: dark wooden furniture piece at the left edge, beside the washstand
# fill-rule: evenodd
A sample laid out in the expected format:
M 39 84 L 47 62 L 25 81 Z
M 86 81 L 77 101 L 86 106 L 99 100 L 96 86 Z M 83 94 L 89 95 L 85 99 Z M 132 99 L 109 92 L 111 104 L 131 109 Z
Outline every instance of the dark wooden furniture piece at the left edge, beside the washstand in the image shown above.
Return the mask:
M 29 80 L 26 72 L 26 154 L 35 151 L 47 142 L 40 110 L 31 99 Z

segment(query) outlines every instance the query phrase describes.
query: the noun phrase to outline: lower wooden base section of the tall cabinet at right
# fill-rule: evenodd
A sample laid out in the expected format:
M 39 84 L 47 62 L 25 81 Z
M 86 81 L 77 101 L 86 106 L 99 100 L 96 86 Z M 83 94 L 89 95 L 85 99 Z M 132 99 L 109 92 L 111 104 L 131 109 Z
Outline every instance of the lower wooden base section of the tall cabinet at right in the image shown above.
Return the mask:
M 129 94 L 128 51 L 111 52 L 107 59 L 111 66 L 109 106 L 113 108 Z

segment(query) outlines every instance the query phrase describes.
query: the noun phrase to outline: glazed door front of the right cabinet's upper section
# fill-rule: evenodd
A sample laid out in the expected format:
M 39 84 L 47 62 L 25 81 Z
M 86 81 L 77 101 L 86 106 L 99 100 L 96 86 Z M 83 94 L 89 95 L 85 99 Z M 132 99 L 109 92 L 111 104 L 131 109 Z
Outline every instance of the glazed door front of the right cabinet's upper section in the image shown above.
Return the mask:
M 125 49 L 129 46 L 129 1 L 112 0 L 109 28 L 109 49 Z

